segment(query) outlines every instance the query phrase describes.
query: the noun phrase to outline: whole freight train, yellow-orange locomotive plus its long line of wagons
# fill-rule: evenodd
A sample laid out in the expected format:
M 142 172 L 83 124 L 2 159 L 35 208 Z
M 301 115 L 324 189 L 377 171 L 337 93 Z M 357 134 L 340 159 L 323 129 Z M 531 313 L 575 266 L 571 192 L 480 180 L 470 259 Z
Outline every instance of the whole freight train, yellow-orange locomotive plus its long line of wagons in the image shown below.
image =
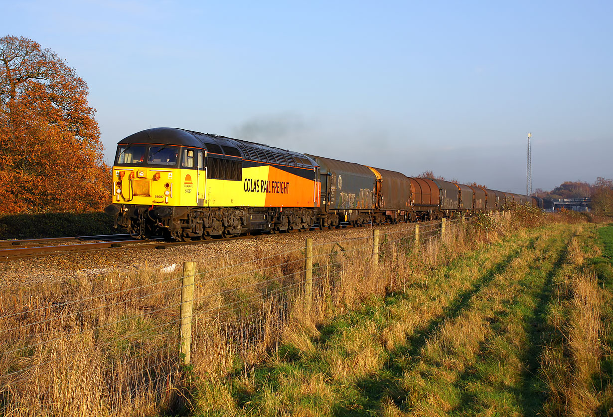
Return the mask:
M 537 197 L 503 193 L 179 128 L 126 137 L 105 212 L 172 240 L 436 220 Z

